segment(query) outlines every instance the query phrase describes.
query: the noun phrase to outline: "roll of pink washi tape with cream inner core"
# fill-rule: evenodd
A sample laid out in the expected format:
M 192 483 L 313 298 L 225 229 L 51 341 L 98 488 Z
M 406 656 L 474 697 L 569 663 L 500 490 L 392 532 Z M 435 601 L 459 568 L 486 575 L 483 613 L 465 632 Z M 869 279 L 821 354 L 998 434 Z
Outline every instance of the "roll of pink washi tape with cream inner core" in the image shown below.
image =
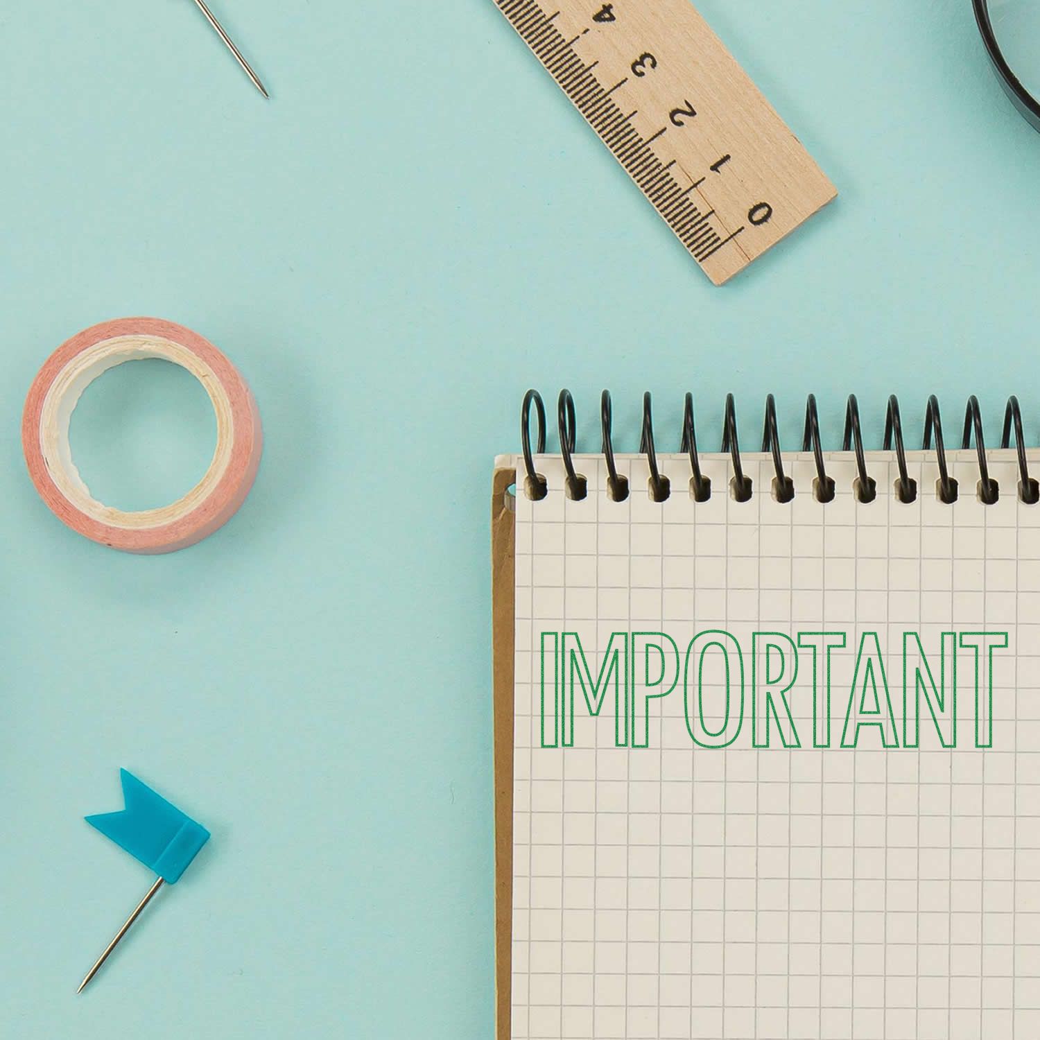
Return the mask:
M 90 496 L 69 447 L 69 420 L 83 390 L 125 361 L 161 358 L 206 388 L 216 413 L 216 449 L 206 475 L 161 509 L 127 513 Z M 120 318 L 84 329 L 40 369 L 22 416 L 29 475 L 55 516 L 80 535 L 126 552 L 173 552 L 226 523 L 260 465 L 260 414 L 245 380 L 198 333 L 159 318 Z

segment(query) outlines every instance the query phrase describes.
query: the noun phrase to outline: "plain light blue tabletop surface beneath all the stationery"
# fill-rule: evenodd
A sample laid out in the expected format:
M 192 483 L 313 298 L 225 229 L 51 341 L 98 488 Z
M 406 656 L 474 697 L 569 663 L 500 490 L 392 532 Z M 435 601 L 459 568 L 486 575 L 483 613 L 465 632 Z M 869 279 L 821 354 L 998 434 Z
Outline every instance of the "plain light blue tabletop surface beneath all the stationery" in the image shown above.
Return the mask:
M 619 448 L 644 389 L 671 446 L 686 388 L 705 446 L 730 389 L 749 443 L 770 390 L 788 445 L 810 390 L 831 444 L 852 391 L 873 445 L 891 391 L 911 438 L 978 392 L 991 439 L 1017 392 L 1035 440 L 1040 135 L 967 0 L 702 0 L 841 192 L 717 289 L 491 0 L 214 6 L 270 103 L 189 0 L 0 14 L 0 1031 L 488 1038 L 488 489 L 523 391 L 570 386 L 589 449 L 603 386 Z M 19 446 L 47 355 L 137 313 L 229 354 L 266 435 L 240 514 L 158 558 L 62 527 Z M 152 367 L 74 423 L 127 504 L 212 443 Z M 77 998 L 150 884 L 79 820 L 119 765 L 213 840 Z

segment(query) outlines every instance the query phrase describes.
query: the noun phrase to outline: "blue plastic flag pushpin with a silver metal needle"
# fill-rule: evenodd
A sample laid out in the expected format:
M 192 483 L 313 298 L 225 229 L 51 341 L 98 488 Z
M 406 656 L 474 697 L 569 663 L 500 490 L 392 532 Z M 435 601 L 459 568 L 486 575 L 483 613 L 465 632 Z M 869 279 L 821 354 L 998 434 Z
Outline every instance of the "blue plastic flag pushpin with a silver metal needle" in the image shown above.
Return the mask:
M 142 784 L 135 776 L 120 770 L 123 782 L 123 799 L 126 808 L 120 812 L 105 812 L 87 816 L 86 822 L 120 848 L 130 853 L 154 870 L 158 878 L 148 894 L 137 904 L 127 922 L 119 930 L 94 967 L 86 973 L 76 991 L 81 993 L 87 983 L 98 973 L 108 955 L 119 945 L 120 940 L 130 931 L 133 922 L 152 901 L 155 893 L 168 882 L 178 881 L 199 850 L 209 839 L 209 831 L 186 816 L 175 805 L 160 798 L 151 787 Z

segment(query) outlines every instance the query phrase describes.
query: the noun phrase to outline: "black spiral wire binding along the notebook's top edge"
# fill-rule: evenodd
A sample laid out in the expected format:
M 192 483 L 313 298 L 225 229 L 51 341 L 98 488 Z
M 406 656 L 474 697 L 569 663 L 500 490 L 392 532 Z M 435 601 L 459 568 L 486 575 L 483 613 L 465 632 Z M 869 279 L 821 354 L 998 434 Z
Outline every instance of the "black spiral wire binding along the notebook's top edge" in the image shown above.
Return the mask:
M 530 416 L 534 407 L 538 420 L 536 447 L 531 448 Z M 613 410 L 610 393 L 604 390 L 600 398 L 600 425 L 602 430 L 602 450 L 607 471 L 607 492 L 614 501 L 624 501 L 629 495 L 627 477 L 618 472 L 612 437 Z M 556 406 L 556 422 L 560 433 L 560 449 L 563 458 L 565 491 L 568 497 L 582 499 L 588 496 L 588 480 L 574 467 L 574 451 L 577 438 L 577 421 L 574 398 L 569 390 L 562 390 Z M 1000 437 L 1002 449 L 1011 446 L 1011 436 L 1015 437 L 1015 450 L 1018 459 L 1018 498 L 1026 505 L 1040 503 L 1040 484 L 1030 476 L 1022 431 L 1022 414 L 1017 397 L 1009 397 L 1004 413 L 1004 427 Z M 933 394 L 929 397 L 925 413 L 925 432 L 922 448 L 932 450 L 932 440 L 935 439 L 935 463 L 939 472 L 936 482 L 936 495 L 946 503 L 957 501 L 958 482 L 950 474 L 946 463 L 945 442 L 942 436 L 942 420 L 939 414 L 939 401 Z M 523 447 L 523 463 L 525 470 L 524 491 L 528 498 L 538 500 L 548 493 L 545 476 L 535 468 L 535 456 L 545 451 L 546 416 L 542 395 L 537 390 L 528 390 L 524 394 L 520 410 L 520 440 Z M 982 410 L 979 399 L 973 394 L 968 398 L 964 413 L 964 435 L 961 442 L 962 450 L 970 449 L 972 439 L 979 466 L 978 497 L 986 505 L 992 505 L 999 500 L 999 486 L 989 474 L 989 461 L 983 437 Z M 884 450 L 894 449 L 895 462 L 899 467 L 899 478 L 895 482 L 895 495 L 901 502 L 913 502 L 917 498 L 917 482 L 909 473 L 906 457 L 906 445 L 903 437 L 903 423 L 900 417 L 900 402 L 892 394 L 888 398 L 885 412 Z M 850 394 L 846 405 L 844 433 L 841 448 L 852 450 L 856 462 L 856 477 L 853 491 L 856 498 L 863 504 L 869 504 L 877 498 L 877 485 L 866 470 L 866 454 L 863 448 L 863 435 L 860 426 L 859 405 L 855 394 Z M 679 450 L 690 458 L 690 496 L 697 502 L 707 501 L 711 497 L 711 480 L 701 470 L 700 453 L 697 447 L 697 432 L 694 423 L 694 397 L 687 393 L 682 411 L 682 440 Z M 813 495 L 820 502 L 833 501 L 836 494 L 833 478 L 827 475 L 823 438 L 820 432 L 820 413 L 816 398 L 809 394 L 805 405 L 805 425 L 802 434 L 802 450 L 811 451 L 815 464 L 816 476 L 813 479 Z M 657 449 L 654 441 L 653 415 L 650 393 L 643 395 L 643 428 L 640 439 L 640 451 L 646 456 L 650 470 L 649 494 L 657 502 L 666 501 L 671 495 L 671 482 L 660 472 L 657 464 Z M 748 501 L 753 494 L 751 477 L 744 471 L 740 460 L 740 448 L 736 435 L 736 405 L 732 394 L 726 395 L 726 409 L 723 419 L 722 451 L 730 456 L 733 476 L 730 480 L 732 496 L 738 502 Z M 795 497 L 794 482 L 784 472 L 783 452 L 780 446 L 780 434 L 777 422 L 776 399 L 773 394 L 765 398 L 765 421 L 762 428 L 762 451 L 769 453 L 776 477 L 772 480 L 773 494 L 778 501 L 789 502 Z

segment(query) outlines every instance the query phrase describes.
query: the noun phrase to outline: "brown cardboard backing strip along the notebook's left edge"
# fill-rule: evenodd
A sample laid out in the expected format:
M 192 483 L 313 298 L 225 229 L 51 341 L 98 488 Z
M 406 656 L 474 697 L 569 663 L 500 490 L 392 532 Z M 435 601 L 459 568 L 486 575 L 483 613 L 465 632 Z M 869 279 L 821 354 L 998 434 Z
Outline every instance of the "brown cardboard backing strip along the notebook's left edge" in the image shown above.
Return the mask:
M 491 600 L 495 698 L 495 1036 L 510 1040 L 513 942 L 513 643 L 516 532 L 505 491 L 516 470 L 496 469 L 491 491 Z

